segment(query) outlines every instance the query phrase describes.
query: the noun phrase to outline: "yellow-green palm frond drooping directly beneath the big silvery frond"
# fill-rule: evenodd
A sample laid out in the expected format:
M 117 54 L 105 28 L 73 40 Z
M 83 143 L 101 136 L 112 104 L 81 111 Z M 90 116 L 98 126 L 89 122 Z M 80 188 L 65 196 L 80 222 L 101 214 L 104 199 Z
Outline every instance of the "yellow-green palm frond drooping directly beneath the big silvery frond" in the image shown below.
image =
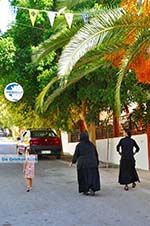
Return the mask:
M 80 79 L 85 77 L 87 74 L 94 72 L 99 67 L 108 66 L 109 62 L 103 61 L 103 55 L 111 53 L 112 51 L 117 51 L 120 48 L 119 45 L 112 43 L 109 46 L 101 46 L 99 49 L 95 49 L 87 53 L 80 61 L 75 65 L 74 70 L 72 71 L 67 84 L 66 82 L 61 81 L 61 77 L 55 77 L 48 85 L 43 89 L 36 101 L 36 110 L 38 112 L 47 111 L 50 104 L 57 98 L 57 96 L 61 95 L 63 91 L 69 87 L 70 85 L 75 84 Z M 56 82 L 60 81 L 59 88 L 57 88 L 52 94 L 50 94 L 50 88 Z

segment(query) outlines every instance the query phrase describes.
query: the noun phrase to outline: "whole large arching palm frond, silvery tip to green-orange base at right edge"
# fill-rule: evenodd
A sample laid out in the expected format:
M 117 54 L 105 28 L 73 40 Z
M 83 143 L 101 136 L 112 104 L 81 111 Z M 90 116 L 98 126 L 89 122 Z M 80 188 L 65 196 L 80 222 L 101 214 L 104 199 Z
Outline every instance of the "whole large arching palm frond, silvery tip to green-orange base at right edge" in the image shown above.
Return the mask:
M 64 49 L 58 63 L 58 75 L 68 75 L 77 61 L 96 46 L 104 42 L 110 44 L 113 40 L 118 42 L 121 37 L 127 39 L 128 34 L 136 35 L 136 31 L 149 29 L 150 15 L 143 18 L 135 15 L 137 20 L 133 20 L 133 16 L 117 8 L 105 10 L 99 17 L 91 20 L 91 23 L 81 28 Z

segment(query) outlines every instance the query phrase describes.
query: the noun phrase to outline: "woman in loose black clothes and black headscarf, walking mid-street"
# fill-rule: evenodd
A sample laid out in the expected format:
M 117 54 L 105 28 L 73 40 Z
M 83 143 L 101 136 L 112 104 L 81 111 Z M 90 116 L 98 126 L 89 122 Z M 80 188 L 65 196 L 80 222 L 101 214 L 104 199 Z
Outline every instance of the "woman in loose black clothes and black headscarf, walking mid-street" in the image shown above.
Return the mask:
M 100 190 L 99 159 L 96 147 L 89 141 L 86 132 L 80 134 L 71 165 L 74 163 L 77 163 L 79 193 L 94 195 Z

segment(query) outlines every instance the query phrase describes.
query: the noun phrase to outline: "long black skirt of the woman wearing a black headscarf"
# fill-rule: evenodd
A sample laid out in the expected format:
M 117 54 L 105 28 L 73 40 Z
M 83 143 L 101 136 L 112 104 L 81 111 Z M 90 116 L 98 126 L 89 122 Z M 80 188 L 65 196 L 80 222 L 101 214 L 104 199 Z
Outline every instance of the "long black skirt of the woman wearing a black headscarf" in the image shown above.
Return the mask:
M 100 177 L 98 168 L 80 168 L 77 170 L 79 192 L 94 192 L 100 190 Z

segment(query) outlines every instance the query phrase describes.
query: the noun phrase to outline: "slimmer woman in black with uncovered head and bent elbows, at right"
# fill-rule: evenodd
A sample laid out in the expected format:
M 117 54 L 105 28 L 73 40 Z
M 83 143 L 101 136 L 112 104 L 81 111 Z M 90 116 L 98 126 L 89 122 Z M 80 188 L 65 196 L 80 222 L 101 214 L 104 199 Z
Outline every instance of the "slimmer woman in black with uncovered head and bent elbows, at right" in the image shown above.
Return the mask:
M 121 155 L 119 183 L 125 185 L 124 189 L 128 191 L 128 184 L 132 183 L 132 187 L 134 188 L 136 186 L 135 182 L 140 182 L 135 169 L 134 159 L 134 155 L 139 151 L 140 148 L 136 141 L 131 138 L 130 130 L 126 129 L 125 133 L 126 136 L 122 138 L 117 145 L 117 151 Z

